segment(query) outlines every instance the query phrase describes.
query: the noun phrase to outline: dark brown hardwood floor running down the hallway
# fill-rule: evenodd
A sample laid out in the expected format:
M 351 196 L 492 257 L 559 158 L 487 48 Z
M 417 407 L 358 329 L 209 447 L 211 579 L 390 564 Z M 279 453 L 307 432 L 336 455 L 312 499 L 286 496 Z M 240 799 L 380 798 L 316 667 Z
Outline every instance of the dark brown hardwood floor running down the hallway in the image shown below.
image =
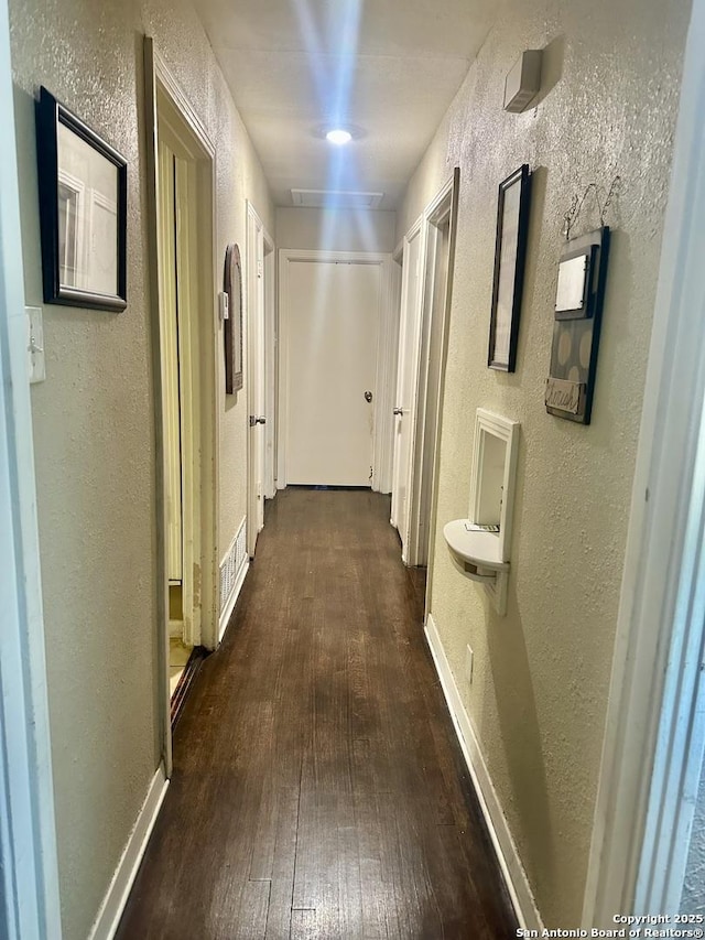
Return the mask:
M 288 489 L 174 736 L 118 938 L 509 938 L 389 498 Z

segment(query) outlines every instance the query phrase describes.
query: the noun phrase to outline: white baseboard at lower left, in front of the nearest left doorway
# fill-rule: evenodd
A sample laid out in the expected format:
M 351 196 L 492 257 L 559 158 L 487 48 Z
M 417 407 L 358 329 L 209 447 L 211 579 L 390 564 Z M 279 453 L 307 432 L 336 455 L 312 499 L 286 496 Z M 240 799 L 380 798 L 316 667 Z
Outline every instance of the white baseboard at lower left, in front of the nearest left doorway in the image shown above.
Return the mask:
M 169 780 L 164 772 L 164 765 L 160 765 L 112 876 L 89 940 L 112 940 L 115 937 L 167 787 Z

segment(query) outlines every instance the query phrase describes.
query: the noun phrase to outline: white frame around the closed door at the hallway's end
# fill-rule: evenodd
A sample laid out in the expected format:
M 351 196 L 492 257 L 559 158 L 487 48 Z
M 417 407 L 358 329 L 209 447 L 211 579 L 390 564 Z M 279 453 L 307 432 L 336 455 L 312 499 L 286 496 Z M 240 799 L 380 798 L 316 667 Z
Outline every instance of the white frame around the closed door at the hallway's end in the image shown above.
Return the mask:
M 391 490 L 391 445 L 394 359 L 393 277 L 390 253 L 372 251 L 319 251 L 281 248 L 279 251 L 279 426 L 276 486 L 286 486 L 286 432 L 289 430 L 289 266 L 300 261 L 376 264 L 381 270 L 381 320 L 377 342 L 375 434 L 372 437 L 372 490 Z

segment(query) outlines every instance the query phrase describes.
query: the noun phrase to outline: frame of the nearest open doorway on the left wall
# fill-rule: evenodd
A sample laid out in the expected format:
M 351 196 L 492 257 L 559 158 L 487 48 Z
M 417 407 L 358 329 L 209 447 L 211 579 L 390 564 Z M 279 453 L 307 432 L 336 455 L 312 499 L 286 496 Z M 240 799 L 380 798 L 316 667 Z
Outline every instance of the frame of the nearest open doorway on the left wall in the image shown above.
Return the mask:
M 160 279 L 159 279 L 159 163 L 158 127 L 159 115 L 166 101 L 170 110 L 170 123 L 174 116 L 178 120 L 178 132 L 188 142 L 196 164 L 199 204 L 205 212 L 199 224 L 198 249 L 200 252 L 200 280 L 198 295 L 202 298 L 199 310 L 209 312 L 198 318 L 199 333 L 199 378 L 200 402 L 195 415 L 199 430 L 200 444 L 200 491 L 198 505 L 200 532 L 200 559 L 194 564 L 199 566 L 200 582 L 200 636 L 194 640 L 209 649 L 218 644 L 218 455 L 219 455 L 219 415 L 220 388 L 217 377 L 218 350 L 220 349 L 217 317 L 217 270 L 215 177 L 216 154 L 208 133 L 183 93 L 171 71 L 159 55 L 150 36 L 144 37 L 144 85 L 145 116 L 148 131 L 148 217 L 149 217 L 149 257 L 151 290 L 151 331 L 152 369 L 154 375 L 154 433 L 156 451 L 156 595 L 159 620 L 159 702 L 162 725 L 162 750 L 166 775 L 172 772 L 171 709 L 169 690 L 169 577 L 166 570 L 165 532 L 166 500 L 165 475 L 166 454 L 163 445 L 163 411 L 161 380 L 161 325 L 160 325 Z

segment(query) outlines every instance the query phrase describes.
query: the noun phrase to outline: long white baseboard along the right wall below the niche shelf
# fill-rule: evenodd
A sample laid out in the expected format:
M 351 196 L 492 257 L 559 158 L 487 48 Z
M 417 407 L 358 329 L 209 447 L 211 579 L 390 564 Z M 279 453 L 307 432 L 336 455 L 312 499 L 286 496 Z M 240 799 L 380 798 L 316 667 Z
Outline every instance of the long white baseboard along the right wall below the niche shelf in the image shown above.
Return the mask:
M 499 797 L 487 770 L 479 742 L 460 699 L 460 693 L 451 671 L 451 665 L 431 614 L 429 614 L 426 620 L 425 634 L 438 679 L 441 680 L 441 687 L 448 704 L 451 717 L 453 718 L 455 732 L 460 743 L 463 756 L 470 771 L 482 815 L 485 817 L 485 822 L 489 830 L 492 845 L 497 853 L 497 860 L 519 919 L 519 925 L 524 930 L 538 930 L 539 936 L 541 936 L 543 921 L 536 908 L 527 873 L 521 864 L 521 858 L 509 831 Z

